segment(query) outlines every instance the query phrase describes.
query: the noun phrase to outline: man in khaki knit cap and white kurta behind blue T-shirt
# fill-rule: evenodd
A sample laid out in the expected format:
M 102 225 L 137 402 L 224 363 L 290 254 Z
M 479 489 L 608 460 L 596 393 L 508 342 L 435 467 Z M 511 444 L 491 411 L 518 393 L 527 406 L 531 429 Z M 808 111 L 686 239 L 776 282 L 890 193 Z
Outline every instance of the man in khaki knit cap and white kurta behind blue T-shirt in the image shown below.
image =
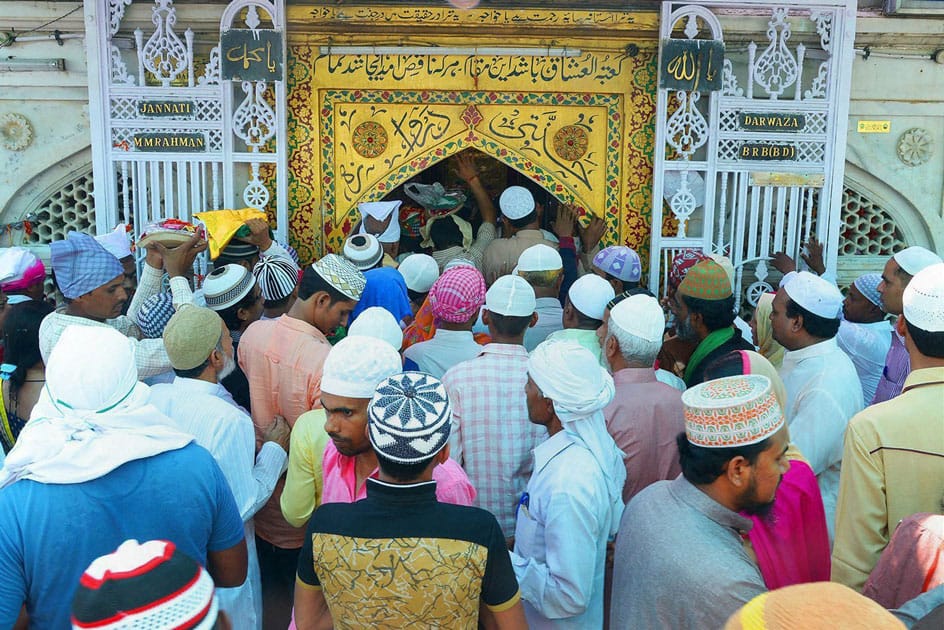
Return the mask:
M 150 403 L 213 455 L 236 498 L 245 524 L 248 573 L 242 586 L 217 592 L 235 628 L 256 630 L 262 627 L 262 588 L 252 517 L 285 472 L 290 429 L 277 419 L 256 454 L 252 418 L 219 384 L 235 359 L 229 331 L 214 311 L 182 307 L 168 322 L 164 343 L 177 376 L 173 383 L 151 387 Z

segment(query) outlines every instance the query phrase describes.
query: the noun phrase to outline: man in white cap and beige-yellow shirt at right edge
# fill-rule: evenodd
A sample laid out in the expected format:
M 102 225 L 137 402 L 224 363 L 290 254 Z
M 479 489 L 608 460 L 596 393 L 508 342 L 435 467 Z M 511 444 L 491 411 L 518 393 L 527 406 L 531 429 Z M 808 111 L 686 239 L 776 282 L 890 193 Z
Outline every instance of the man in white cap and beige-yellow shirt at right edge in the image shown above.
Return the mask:
M 910 279 L 895 328 L 912 371 L 901 395 L 846 429 L 832 579 L 861 590 L 898 523 L 941 511 L 944 488 L 944 264 Z

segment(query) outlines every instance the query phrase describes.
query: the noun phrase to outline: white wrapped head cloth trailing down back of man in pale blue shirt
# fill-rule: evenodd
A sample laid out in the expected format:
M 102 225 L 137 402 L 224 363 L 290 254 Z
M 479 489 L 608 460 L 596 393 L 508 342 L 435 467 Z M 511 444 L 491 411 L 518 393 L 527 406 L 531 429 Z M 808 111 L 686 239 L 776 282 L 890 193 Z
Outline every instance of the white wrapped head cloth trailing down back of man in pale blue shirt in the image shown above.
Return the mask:
M 528 375 L 541 393 L 554 402 L 564 431 L 590 451 L 600 465 L 610 496 L 609 534 L 619 529 L 623 513 L 626 467 L 622 451 L 606 430 L 603 408 L 615 392 L 613 377 L 593 353 L 573 341 L 541 343 L 528 359 Z

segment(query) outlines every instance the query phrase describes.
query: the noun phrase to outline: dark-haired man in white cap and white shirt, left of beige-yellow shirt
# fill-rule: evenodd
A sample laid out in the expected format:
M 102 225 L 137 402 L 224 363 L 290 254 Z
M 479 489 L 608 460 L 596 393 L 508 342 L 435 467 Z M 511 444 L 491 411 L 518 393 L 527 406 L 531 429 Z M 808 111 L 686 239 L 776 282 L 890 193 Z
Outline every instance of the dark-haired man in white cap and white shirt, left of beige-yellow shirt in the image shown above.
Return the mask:
M 786 352 L 780 376 L 787 390 L 790 437 L 816 473 L 832 540 L 842 463 L 842 436 L 862 410 L 862 385 L 836 343 L 842 294 L 831 282 L 801 271 L 780 287 L 770 324 Z

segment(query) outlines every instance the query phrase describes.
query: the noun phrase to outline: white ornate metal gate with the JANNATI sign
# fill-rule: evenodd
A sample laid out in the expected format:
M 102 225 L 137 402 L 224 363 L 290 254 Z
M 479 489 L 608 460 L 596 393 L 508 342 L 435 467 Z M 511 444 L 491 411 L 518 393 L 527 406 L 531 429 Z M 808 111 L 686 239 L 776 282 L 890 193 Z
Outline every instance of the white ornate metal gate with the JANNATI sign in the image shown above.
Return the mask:
M 284 3 L 212 6 L 85 3 L 99 232 L 255 207 L 286 238 Z

